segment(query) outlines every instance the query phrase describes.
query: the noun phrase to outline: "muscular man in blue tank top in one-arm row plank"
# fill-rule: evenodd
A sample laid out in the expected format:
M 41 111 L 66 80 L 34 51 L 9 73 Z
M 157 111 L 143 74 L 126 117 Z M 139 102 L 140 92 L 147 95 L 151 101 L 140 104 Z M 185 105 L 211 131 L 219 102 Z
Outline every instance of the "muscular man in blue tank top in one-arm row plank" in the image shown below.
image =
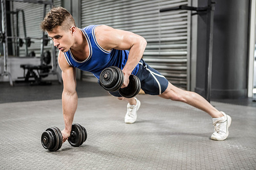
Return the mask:
M 91 25 L 79 29 L 72 15 L 62 7 L 50 10 L 41 22 L 41 29 L 47 31 L 54 46 L 59 50 L 58 64 L 62 70 L 62 109 L 65 121 L 65 129 L 61 131 L 63 142 L 70 135 L 77 109 L 75 68 L 90 71 L 99 79 L 101 70 L 109 66 L 122 69 L 124 82 L 121 88 L 129 84 L 131 74 L 136 75 L 145 93 L 184 102 L 208 113 L 215 127 L 211 139 L 225 140 L 227 138 L 231 117 L 218 111 L 201 95 L 175 87 L 157 70 L 147 65 L 141 59 L 146 47 L 146 40 L 143 37 L 105 25 Z M 140 101 L 136 98 L 125 99 L 118 91 L 111 92 L 111 94 L 119 100 L 128 102 L 124 122 L 134 123 L 137 119 Z

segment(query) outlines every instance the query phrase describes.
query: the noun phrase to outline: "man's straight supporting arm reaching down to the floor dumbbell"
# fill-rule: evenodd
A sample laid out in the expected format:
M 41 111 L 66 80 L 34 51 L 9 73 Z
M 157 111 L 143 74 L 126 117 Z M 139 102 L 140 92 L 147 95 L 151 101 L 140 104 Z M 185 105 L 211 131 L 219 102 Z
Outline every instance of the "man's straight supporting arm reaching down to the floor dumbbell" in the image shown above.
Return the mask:
M 61 133 L 63 142 L 65 142 L 70 136 L 74 115 L 77 109 L 76 72 L 74 67 L 68 65 L 62 52 L 59 52 L 58 63 L 62 70 L 61 75 L 63 80 L 62 111 L 65 129 L 63 129 Z

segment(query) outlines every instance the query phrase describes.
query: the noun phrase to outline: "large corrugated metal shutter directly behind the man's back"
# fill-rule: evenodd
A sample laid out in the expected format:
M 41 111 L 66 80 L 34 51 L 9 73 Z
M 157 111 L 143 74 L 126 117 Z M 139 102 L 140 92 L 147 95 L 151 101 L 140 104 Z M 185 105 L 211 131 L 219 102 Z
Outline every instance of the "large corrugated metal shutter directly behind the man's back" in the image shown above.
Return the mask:
M 162 8 L 190 5 L 190 1 L 81 1 L 81 26 L 104 24 L 131 31 L 147 40 L 143 59 L 171 83 L 188 87 L 190 13 Z M 83 71 L 84 80 L 93 81 Z

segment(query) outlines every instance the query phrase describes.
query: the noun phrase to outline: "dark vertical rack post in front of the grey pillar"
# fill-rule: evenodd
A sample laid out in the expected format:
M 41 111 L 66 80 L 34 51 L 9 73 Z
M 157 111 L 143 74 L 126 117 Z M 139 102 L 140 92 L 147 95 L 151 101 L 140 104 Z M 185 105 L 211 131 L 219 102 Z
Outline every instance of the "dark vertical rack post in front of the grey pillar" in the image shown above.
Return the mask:
M 207 48 L 206 48 L 206 70 L 205 75 L 205 98 L 210 102 L 211 96 L 211 68 L 212 68 L 212 45 L 213 45 L 213 31 L 214 31 L 214 11 L 215 2 L 208 0 L 208 16 L 207 16 Z

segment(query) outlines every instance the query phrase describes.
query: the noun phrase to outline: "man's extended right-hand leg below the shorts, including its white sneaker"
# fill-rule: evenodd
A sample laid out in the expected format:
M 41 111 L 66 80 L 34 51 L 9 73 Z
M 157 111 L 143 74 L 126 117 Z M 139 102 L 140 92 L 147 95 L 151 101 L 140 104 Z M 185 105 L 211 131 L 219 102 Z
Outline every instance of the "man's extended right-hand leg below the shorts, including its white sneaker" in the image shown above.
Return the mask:
M 184 102 L 205 111 L 212 117 L 212 122 L 215 127 L 215 131 L 212 133 L 211 139 L 225 140 L 227 138 L 228 127 L 231 124 L 231 117 L 226 115 L 224 112 L 218 111 L 201 95 L 195 92 L 182 90 L 169 83 L 167 89 L 159 96 L 164 99 Z

